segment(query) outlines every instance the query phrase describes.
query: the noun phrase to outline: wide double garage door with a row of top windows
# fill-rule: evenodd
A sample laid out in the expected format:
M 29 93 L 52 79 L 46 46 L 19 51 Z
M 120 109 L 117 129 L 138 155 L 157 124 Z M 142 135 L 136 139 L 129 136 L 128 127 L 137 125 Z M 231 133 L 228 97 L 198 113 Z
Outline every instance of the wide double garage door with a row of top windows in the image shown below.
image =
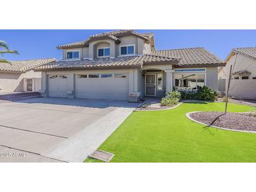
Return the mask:
M 128 74 L 77 74 L 76 98 L 128 100 Z

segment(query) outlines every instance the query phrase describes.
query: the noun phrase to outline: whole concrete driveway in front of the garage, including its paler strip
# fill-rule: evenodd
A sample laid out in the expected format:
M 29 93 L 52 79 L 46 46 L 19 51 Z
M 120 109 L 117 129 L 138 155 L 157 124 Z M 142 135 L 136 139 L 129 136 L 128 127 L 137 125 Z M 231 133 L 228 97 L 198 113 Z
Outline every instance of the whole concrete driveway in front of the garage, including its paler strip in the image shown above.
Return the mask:
M 82 162 L 135 107 L 109 100 L 1 100 L 0 162 Z

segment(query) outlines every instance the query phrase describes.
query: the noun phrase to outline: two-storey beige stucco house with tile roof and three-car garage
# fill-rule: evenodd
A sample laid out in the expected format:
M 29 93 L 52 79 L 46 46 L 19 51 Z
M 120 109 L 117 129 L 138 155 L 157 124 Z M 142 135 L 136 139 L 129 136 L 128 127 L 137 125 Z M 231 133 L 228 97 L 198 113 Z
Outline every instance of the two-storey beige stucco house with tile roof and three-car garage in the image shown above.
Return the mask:
M 63 59 L 36 67 L 45 97 L 128 100 L 177 89 L 217 90 L 224 62 L 204 48 L 155 50 L 154 34 L 121 30 L 63 46 Z

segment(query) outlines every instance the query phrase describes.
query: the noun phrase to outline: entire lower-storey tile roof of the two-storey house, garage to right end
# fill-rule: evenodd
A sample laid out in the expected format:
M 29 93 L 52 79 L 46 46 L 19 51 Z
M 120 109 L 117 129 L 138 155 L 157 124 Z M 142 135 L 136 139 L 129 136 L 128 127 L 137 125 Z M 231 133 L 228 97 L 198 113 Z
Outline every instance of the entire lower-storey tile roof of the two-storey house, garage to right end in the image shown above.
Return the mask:
M 117 58 L 97 58 L 94 60 L 61 60 L 50 64 L 43 64 L 35 70 L 47 69 L 95 69 L 96 67 L 129 68 L 141 67 L 142 64 L 156 64 L 156 62 L 177 61 L 176 65 L 185 67 L 200 66 L 224 66 L 224 62 L 208 52 L 205 48 L 182 48 L 172 50 L 156 50 L 151 53 Z

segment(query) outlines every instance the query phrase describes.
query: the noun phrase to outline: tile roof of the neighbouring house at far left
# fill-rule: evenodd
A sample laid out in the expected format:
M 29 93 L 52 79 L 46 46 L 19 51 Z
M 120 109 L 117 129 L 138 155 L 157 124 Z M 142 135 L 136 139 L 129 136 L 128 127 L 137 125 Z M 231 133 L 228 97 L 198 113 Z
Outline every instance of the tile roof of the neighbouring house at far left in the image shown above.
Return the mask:
M 25 72 L 29 69 L 33 69 L 34 67 L 39 67 L 42 64 L 55 61 L 55 58 L 48 58 L 38 60 L 11 61 L 11 64 L 0 62 L 0 71 Z

